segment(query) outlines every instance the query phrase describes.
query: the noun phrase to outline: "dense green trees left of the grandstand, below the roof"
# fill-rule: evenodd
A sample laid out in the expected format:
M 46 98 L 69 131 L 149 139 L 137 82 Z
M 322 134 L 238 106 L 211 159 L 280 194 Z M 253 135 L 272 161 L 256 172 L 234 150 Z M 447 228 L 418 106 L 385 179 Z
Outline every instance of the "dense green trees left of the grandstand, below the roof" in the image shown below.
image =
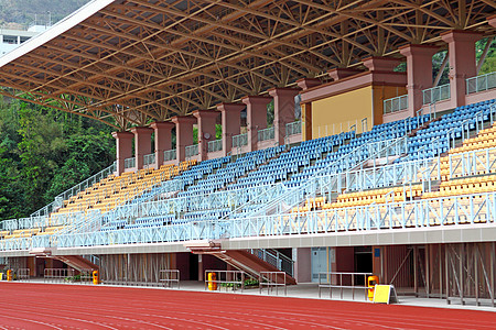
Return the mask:
M 0 101 L 0 219 L 22 218 L 111 164 L 110 128 L 21 101 Z

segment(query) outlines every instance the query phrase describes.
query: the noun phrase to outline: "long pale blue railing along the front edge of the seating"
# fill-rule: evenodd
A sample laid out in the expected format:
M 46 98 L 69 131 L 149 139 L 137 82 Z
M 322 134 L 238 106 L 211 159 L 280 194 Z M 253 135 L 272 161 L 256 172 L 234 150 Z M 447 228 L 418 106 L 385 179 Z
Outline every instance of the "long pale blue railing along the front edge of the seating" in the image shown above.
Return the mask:
M 495 205 L 496 193 L 459 195 L 157 228 L 69 233 L 57 235 L 54 244 L 43 246 L 75 248 L 360 231 L 379 233 L 380 230 L 449 226 L 477 228 L 496 224 Z M 0 251 L 33 248 L 31 238 L 0 240 Z

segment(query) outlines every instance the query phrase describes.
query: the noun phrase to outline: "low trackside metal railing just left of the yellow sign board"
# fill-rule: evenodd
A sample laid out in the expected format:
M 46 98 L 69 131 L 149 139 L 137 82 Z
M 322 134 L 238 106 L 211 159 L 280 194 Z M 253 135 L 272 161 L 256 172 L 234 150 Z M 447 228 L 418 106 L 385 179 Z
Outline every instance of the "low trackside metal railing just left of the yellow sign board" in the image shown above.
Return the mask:
M 371 273 L 319 273 L 319 298 L 321 298 L 322 289 L 328 289 L 328 297 L 333 298 L 333 289 L 339 290 L 341 299 L 348 298 L 344 296 L 345 290 L 352 292 L 352 300 L 355 300 L 355 290 L 365 293 L 365 301 L 367 301 L 367 277 Z

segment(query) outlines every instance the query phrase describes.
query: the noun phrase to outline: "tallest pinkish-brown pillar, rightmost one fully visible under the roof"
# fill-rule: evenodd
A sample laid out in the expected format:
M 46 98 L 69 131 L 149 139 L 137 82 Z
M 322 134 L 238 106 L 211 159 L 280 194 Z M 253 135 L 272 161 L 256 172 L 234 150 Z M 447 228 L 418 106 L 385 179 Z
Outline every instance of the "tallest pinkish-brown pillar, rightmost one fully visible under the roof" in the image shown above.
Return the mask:
M 450 61 L 450 92 L 453 108 L 465 105 L 465 79 L 477 75 L 475 61 L 475 42 L 481 34 L 472 31 L 449 31 L 441 34 L 443 42 L 448 43 Z

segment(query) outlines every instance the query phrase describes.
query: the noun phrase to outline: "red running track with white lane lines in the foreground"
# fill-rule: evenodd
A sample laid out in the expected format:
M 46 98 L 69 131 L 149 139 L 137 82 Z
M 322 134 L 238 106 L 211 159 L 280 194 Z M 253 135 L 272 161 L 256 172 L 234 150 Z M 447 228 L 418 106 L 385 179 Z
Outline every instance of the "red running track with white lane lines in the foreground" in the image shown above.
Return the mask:
M 495 329 L 496 312 L 169 289 L 0 283 L 0 329 Z

